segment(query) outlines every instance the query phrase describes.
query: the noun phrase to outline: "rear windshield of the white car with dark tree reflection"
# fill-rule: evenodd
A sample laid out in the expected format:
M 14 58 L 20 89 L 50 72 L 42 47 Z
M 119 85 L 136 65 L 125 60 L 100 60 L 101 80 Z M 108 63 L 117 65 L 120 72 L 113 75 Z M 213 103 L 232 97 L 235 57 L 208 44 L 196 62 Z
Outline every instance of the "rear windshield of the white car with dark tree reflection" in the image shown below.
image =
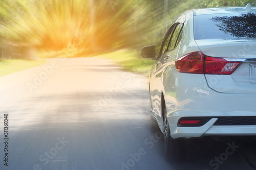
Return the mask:
M 195 40 L 256 38 L 256 15 L 228 13 L 194 16 L 194 36 Z

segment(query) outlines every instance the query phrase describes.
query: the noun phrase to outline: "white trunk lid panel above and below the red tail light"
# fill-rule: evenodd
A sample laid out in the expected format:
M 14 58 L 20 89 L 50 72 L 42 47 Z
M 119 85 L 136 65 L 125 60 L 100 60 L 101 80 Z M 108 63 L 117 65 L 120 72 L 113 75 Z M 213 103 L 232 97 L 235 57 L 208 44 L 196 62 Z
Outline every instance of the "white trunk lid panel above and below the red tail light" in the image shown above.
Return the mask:
M 256 93 L 256 40 L 196 40 L 201 52 L 210 57 L 242 62 L 231 75 L 205 74 L 207 84 L 222 93 Z

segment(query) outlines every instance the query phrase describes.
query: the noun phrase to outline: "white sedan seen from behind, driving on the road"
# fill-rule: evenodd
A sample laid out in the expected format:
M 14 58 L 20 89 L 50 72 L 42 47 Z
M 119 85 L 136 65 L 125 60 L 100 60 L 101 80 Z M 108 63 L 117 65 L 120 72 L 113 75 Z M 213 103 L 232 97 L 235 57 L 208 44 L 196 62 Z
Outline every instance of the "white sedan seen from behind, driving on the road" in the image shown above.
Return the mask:
M 256 8 L 188 10 L 156 47 L 141 49 L 150 73 L 151 126 L 164 134 L 167 160 L 204 136 L 256 136 Z

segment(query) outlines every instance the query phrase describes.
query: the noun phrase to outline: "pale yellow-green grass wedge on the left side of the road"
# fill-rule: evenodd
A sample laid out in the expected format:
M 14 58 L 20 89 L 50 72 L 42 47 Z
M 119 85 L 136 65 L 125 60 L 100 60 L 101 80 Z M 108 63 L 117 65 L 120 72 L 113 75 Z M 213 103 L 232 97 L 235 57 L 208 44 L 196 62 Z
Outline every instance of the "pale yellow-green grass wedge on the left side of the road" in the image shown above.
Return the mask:
M 6 59 L 0 61 L 0 76 L 9 75 L 13 72 L 21 71 L 31 67 L 46 63 L 47 60 L 20 60 Z

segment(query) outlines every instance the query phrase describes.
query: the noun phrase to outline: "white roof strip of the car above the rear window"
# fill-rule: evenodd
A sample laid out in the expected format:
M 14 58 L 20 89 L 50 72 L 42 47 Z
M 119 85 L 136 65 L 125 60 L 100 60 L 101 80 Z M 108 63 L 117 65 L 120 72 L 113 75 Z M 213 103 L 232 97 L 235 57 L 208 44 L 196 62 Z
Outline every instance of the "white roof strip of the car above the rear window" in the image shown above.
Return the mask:
M 251 7 L 251 12 L 256 12 L 256 7 Z M 246 13 L 245 7 L 216 7 L 194 9 L 194 15 L 221 14 L 221 13 Z

